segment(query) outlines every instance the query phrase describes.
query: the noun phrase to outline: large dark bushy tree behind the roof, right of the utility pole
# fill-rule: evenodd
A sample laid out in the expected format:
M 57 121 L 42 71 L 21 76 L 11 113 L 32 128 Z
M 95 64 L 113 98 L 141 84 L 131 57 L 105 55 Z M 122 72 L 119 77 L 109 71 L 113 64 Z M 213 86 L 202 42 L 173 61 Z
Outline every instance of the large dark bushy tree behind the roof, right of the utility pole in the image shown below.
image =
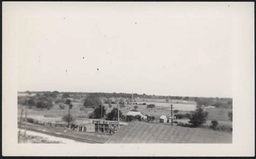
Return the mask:
M 197 110 L 193 112 L 192 117 L 190 118 L 190 122 L 194 127 L 198 127 L 203 125 L 206 122 L 206 117 L 208 112 L 204 112 L 201 106 L 198 106 Z

